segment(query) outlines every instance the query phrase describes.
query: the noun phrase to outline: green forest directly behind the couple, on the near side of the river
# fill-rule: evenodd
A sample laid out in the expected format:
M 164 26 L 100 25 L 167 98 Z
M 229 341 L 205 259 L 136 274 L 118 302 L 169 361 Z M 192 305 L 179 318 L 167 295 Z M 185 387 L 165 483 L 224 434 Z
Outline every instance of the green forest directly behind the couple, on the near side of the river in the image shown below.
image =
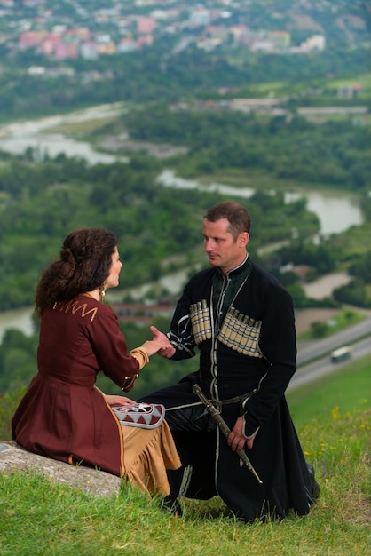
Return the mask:
M 64 155 L 43 163 L 12 158 L 3 163 L 0 309 L 32 304 L 37 276 L 58 255 L 63 237 L 77 227 L 106 227 L 120 238 L 127 288 L 199 262 L 195 250 L 210 195 L 173 195 L 155 182 L 158 171 L 158 163 L 141 155 L 130 163 L 93 167 Z M 285 204 L 282 194 L 257 192 L 249 206 L 256 215 L 255 249 L 289 239 L 298 220 L 301 236 L 318 230 L 302 200 Z

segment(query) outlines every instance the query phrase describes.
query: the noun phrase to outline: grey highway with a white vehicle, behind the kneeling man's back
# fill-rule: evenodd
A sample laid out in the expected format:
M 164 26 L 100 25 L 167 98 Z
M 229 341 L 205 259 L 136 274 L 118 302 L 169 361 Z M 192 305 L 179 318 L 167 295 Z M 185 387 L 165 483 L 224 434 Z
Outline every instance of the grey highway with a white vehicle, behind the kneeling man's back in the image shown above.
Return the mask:
M 324 377 L 349 365 L 350 360 L 333 363 L 330 361 L 329 356 L 330 352 L 336 349 L 336 347 L 348 345 L 351 345 L 353 349 L 351 361 L 371 354 L 371 318 L 367 318 L 363 322 L 342 330 L 334 336 L 309 343 L 298 343 L 297 370 L 294 377 L 291 378 L 287 391 L 294 390 L 299 386 L 308 384 L 317 378 Z M 367 395 L 370 394 L 368 393 Z

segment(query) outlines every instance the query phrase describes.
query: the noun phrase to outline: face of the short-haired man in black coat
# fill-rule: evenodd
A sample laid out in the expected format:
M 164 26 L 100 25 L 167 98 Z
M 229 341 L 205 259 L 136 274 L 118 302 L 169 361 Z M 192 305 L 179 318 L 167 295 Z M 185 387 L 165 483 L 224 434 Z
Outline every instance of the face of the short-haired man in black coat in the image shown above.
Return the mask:
M 234 241 L 231 232 L 227 232 L 228 220 L 221 218 L 217 222 L 203 220 L 203 244 L 212 266 L 219 266 L 226 274 L 236 266 L 241 265 L 246 257 L 246 246 L 249 234 L 242 232 Z

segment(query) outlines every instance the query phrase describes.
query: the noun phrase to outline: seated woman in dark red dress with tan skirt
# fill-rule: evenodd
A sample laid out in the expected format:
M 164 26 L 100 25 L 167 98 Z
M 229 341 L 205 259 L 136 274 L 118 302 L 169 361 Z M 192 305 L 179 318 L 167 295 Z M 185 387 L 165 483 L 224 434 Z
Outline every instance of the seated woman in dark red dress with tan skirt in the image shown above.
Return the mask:
M 116 315 L 102 303 L 121 269 L 114 234 L 87 228 L 67 235 L 59 260 L 44 270 L 36 288 L 38 373 L 12 418 L 12 435 L 37 454 L 99 467 L 166 496 L 166 469 L 180 466 L 169 426 L 122 425 L 112 406 L 134 402 L 95 386 L 100 370 L 129 392 L 149 357 L 169 342 L 151 327 L 154 338 L 128 353 Z

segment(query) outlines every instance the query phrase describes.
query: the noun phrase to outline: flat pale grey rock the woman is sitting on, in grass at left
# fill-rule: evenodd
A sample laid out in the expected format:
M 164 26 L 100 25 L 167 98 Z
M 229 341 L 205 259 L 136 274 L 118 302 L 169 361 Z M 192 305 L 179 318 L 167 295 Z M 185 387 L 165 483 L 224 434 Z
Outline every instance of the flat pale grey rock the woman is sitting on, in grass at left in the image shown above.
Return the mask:
M 121 487 L 120 477 L 110 473 L 38 456 L 14 441 L 0 442 L 0 473 L 21 471 L 47 475 L 52 481 L 80 488 L 93 496 L 114 496 Z

